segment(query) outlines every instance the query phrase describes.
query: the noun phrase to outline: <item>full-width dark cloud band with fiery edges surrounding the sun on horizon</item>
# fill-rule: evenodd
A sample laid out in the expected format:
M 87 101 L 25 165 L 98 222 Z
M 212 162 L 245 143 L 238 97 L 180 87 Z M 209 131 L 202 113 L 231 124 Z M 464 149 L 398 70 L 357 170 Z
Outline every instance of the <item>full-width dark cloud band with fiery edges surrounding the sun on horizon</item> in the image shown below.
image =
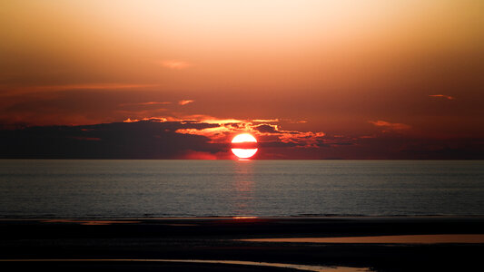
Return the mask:
M 232 159 L 232 137 L 251 132 L 258 139 L 254 159 L 484 159 L 479 138 L 429 139 L 405 136 L 403 124 L 370 136 L 283 131 L 242 121 L 144 121 L 81 126 L 5 126 L 0 158 L 6 159 Z M 403 125 L 404 126 L 404 125 Z

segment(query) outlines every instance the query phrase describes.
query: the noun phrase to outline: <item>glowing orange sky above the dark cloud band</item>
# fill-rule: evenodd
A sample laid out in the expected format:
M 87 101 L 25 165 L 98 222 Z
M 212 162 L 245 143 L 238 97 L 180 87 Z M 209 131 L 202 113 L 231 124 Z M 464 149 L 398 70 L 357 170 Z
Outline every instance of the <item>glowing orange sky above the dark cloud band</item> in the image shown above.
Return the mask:
M 0 123 L 272 120 L 348 139 L 483 139 L 483 11 L 479 0 L 2 1 Z

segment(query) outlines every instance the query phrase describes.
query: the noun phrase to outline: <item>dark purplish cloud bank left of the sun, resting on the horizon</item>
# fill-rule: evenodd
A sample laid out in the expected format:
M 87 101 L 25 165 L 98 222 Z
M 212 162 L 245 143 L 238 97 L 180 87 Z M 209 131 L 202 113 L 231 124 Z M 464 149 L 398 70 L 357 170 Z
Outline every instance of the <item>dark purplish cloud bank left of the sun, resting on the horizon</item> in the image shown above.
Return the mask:
M 188 151 L 228 151 L 201 135 L 178 129 L 212 124 L 177 121 L 115 122 L 86 126 L 45 126 L 0 131 L 1 158 L 173 159 Z

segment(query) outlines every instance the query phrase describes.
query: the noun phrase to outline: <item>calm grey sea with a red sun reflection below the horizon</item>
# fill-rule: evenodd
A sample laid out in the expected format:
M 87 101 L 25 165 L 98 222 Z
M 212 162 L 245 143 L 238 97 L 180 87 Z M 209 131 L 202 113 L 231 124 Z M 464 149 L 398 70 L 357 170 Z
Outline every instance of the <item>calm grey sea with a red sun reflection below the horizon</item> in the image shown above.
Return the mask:
M 484 215 L 482 160 L 0 160 L 0 218 Z

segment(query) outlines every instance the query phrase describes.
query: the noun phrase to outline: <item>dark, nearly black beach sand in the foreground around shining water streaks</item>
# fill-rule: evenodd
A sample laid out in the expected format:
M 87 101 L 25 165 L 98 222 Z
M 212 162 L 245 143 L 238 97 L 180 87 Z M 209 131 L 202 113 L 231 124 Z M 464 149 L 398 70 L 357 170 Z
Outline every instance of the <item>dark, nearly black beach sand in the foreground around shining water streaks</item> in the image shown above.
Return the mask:
M 484 234 L 484 218 L 272 218 L 0 220 L 0 259 L 205 259 L 376 271 L 482 270 L 484 244 L 254 242 L 327 238 Z M 0 262 L 3 271 L 296 271 L 282 267 L 167 262 Z M 6 268 L 6 270 L 5 270 Z

